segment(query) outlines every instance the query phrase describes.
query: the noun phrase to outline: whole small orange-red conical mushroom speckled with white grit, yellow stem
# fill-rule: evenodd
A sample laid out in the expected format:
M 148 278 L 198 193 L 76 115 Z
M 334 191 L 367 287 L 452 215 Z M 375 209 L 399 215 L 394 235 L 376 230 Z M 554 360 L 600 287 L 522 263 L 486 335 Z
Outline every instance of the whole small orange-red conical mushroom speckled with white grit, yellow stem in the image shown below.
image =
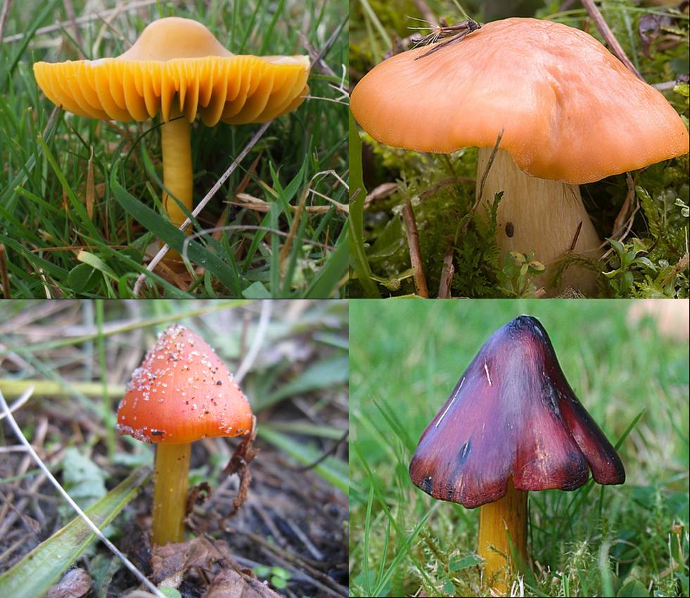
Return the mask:
M 191 443 L 243 436 L 253 428 L 247 398 L 198 334 L 168 327 L 132 373 L 117 408 L 117 431 L 156 443 L 154 544 L 184 540 Z

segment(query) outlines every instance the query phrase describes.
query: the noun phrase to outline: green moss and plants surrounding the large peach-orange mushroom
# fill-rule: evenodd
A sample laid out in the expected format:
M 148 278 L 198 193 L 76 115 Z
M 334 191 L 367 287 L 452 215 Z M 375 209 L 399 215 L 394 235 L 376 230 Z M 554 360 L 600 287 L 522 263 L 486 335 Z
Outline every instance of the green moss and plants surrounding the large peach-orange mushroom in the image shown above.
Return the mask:
M 454 23 L 466 14 L 479 22 L 511 15 L 536 16 L 585 29 L 601 41 L 587 13 L 575 4 L 560 11 L 556 0 L 429 0 L 424 3 L 435 18 Z M 666 8 L 640 6 L 633 0 L 604 0 L 601 10 L 615 37 L 649 84 L 667 84 L 665 98 L 682 115 L 687 126 L 689 89 L 687 84 L 670 82 L 688 74 L 688 13 L 676 11 L 669 29 L 660 33 L 644 53 L 638 32 L 641 19 L 661 18 Z M 415 32 L 410 27 L 424 23 L 419 3 L 413 0 L 354 0 L 350 15 L 350 81 L 357 84 L 366 72 L 389 52 L 401 51 L 400 39 Z M 644 27 L 643 27 L 644 29 Z M 671 31 L 672 30 L 672 31 Z M 422 31 L 421 34 L 426 34 Z M 665 42 L 661 42 L 662 37 Z M 671 37 L 675 41 L 671 41 Z M 596 126 L 593 124 L 593 126 Z M 350 164 L 362 164 L 361 194 L 371 193 L 383 183 L 397 183 L 392 195 L 364 199 L 352 205 L 352 245 L 354 256 L 350 276 L 351 297 L 404 296 L 415 292 L 410 275 L 410 257 L 400 212 L 410 200 L 420 234 L 423 269 L 431 297 L 438 293 L 442 264 L 447 252 L 453 254 L 454 297 L 534 297 L 537 286 L 530 284 L 534 272 L 521 275 L 520 264 L 509 255 L 500 255 L 494 243 L 492 223 L 468 221 L 475 202 L 477 150 L 465 148 L 451 155 L 420 154 L 377 143 L 360 129 L 364 155 L 350 142 Z M 362 170 L 362 167 L 359 169 Z M 622 243 L 608 245 L 602 261 L 589 265 L 598 271 L 596 297 L 688 297 L 687 271 L 689 204 L 688 155 L 635 171 L 634 214 L 630 233 Z M 461 183 L 439 185 L 459 177 Z M 625 174 L 581 186 L 581 193 L 600 238 L 613 234 L 616 216 L 628 193 Z M 488 230 L 488 233 L 487 233 Z M 576 260 L 570 260 L 570 263 Z M 567 267 L 564 259 L 553 273 Z

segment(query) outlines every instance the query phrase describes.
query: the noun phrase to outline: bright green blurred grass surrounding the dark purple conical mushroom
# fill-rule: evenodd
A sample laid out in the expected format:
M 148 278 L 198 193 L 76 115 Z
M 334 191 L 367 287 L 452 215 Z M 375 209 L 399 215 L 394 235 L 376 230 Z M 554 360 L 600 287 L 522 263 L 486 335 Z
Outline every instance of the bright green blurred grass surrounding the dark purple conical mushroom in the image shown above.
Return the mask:
M 407 468 L 480 346 L 521 313 L 540 318 L 606 436 L 625 438 L 627 481 L 530 493 L 533 573 L 513 595 L 688 594 L 689 347 L 627 323 L 632 303 L 350 302 L 352 595 L 480 595 L 478 509 L 433 500 Z

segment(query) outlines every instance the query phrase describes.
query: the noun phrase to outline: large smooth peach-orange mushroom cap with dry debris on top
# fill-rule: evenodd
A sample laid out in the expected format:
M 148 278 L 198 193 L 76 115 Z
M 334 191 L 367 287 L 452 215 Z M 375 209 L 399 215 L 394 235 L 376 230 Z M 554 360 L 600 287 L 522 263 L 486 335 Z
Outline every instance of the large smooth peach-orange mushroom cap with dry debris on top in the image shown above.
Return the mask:
M 503 130 L 520 169 L 575 184 L 688 152 L 662 94 L 573 27 L 509 18 L 419 58 L 429 48 L 384 60 L 352 91 L 352 114 L 377 141 L 449 153 L 492 147 Z

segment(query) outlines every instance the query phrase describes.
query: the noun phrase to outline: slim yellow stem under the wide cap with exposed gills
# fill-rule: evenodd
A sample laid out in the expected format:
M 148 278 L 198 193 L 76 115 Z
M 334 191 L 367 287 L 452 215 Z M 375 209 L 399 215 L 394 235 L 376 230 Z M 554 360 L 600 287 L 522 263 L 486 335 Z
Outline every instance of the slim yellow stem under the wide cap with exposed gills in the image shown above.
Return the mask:
M 163 154 L 163 185 L 170 194 L 192 209 L 192 159 L 190 126 L 177 108 L 170 111 L 170 120 L 160 127 L 160 145 Z M 170 222 L 180 226 L 186 215 L 167 192 L 163 192 L 163 207 Z

